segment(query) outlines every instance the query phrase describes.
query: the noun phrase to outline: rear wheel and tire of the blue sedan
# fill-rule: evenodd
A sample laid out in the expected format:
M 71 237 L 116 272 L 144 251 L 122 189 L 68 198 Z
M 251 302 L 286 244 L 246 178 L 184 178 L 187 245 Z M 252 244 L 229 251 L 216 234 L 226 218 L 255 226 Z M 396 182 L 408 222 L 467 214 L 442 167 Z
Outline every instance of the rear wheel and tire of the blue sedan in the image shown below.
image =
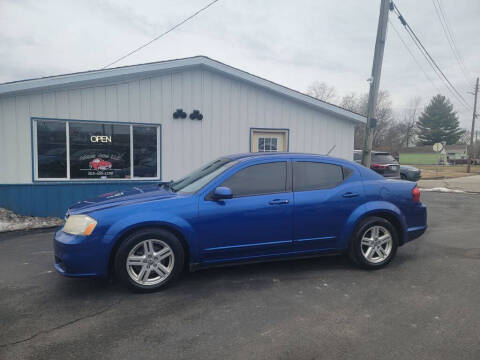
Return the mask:
M 397 249 L 398 234 L 392 223 L 384 218 L 372 216 L 364 219 L 356 227 L 348 255 L 359 267 L 376 270 L 392 261 Z

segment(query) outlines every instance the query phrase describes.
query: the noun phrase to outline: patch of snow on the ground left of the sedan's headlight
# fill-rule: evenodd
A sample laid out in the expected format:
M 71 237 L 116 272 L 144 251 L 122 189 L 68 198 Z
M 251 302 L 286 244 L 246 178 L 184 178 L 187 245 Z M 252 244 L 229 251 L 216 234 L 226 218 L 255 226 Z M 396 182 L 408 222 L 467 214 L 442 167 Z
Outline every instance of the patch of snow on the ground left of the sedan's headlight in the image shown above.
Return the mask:
M 57 217 L 23 216 L 0 208 L 0 232 L 49 228 L 62 224 L 63 220 Z

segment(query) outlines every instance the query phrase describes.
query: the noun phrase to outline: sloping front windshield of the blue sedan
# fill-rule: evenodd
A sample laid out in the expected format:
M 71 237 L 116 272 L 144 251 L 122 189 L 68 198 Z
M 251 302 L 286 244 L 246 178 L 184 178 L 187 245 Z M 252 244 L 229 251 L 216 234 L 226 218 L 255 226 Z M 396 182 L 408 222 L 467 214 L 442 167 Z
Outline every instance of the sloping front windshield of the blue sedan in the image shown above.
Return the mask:
M 184 178 L 172 182 L 169 187 L 174 192 L 193 194 L 236 163 L 237 161 L 229 158 L 216 159 Z

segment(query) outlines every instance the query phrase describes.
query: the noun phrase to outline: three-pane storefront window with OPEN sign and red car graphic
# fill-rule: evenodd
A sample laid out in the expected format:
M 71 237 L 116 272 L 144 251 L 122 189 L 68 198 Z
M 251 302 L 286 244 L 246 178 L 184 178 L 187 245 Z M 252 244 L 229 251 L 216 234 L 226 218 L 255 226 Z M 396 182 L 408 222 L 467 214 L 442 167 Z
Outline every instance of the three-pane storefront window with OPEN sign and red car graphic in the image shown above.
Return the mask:
M 158 126 L 40 119 L 35 123 L 37 179 L 159 178 Z

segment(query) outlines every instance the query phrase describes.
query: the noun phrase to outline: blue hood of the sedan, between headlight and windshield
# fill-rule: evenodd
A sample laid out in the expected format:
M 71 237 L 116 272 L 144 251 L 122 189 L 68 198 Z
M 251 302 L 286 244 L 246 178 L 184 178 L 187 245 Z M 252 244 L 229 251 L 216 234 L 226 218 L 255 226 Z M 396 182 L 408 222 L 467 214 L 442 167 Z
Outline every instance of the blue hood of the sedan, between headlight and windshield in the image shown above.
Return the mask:
M 138 186 L 121 191 L 109 192 L 99 195 L 96 198 L 80 201 L 68 209 L 67 216 L 103 210 L 115 206 L 169 199 L 177 196 L 178 194 L 166 190 L 157 184 Z

